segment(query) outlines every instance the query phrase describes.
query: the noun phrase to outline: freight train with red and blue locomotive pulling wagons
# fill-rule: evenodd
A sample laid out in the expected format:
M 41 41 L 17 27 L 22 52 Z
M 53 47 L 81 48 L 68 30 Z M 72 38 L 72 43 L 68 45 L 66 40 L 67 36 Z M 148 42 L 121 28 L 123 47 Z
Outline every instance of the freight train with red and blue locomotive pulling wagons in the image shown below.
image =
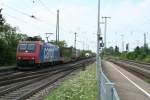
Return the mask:
M 16 62 L 18 68 L 33 68 L 42 65 L 54 65 L 80 57 L 80 51 L 38 41 L 21 41 L 17 47 Z

